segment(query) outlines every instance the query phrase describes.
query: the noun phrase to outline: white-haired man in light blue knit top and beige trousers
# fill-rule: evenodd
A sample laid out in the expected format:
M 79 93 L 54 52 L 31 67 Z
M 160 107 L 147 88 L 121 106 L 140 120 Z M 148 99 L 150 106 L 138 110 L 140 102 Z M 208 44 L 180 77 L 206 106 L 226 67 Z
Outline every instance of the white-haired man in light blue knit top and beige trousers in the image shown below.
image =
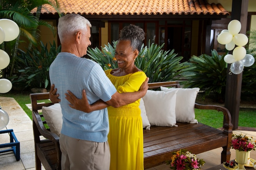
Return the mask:
M 106 107 L 120 107 L 135 102 L 146 94 L 148 78 L 138 92 L 118 93 L 99 64 L 81 58 L 90 46 L 90 22 L 78 14 L 59 18 L 58 35 L 61 52 L 50 66 L 51 84 L 58 89 L 63 113 L 60 136 L 63 170 L 108 170 L 110 150 Z M 85 95 L 88 103 L 100 103 L 90 113 L 69 107 L 65 93 L 71 91 L 78 98 Z M 81 93 L 83 91 L 83 93 Z M 56 90 L 50 91 L 55 94 Z M 103 109 L 104 108 L 104 109 Z

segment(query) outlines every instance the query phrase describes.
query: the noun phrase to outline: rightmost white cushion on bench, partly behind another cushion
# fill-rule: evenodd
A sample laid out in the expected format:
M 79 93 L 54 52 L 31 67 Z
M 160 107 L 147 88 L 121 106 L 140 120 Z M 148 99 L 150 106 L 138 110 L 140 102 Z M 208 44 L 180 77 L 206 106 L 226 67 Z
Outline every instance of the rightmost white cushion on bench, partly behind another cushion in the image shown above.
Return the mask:
M 161 91 L 177 91 L 175 115 L 177 122 L 198 123 L 195 119 L 195 99 L 199 88 L 167 88 L 160 87 Z

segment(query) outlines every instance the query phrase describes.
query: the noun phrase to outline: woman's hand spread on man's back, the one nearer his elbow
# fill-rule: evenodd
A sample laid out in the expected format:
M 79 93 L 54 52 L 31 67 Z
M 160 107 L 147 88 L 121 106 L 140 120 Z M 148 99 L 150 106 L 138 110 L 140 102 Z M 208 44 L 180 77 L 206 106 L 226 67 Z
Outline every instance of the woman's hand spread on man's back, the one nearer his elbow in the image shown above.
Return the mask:
M 85 89 L 82 91 L 82 98 L 77 98 L 72 92 L 67 90 L 65 93 L 65 98 L 70 102 L 69 106 L 73 109 L 80 110 L 86 113 L 90 113 L 93 110 L 91 109 L 91 105 L 89 105 L 88 99 L 86 97 Z

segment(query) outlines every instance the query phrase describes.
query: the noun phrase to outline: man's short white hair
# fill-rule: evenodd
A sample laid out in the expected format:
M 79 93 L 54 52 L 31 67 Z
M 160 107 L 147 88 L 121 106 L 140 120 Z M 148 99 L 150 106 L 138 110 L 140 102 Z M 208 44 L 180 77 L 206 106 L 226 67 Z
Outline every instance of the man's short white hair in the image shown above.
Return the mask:
M 65 36 L 76 34 L 77 31 L 87 31 L 88 26 L 92 27 L 92 24 L 79 14 L 71 13 L 60 17 L 58 20 L 58 36 L 60 41 Z

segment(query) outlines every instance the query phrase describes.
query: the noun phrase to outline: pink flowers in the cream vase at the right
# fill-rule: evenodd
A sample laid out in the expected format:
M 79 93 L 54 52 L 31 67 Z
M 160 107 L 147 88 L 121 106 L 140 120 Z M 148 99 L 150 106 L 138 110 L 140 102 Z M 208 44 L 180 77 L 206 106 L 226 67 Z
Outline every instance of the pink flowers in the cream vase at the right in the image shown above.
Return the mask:
M 255 150 L 256 141 L 254 141 L 252 137 L 242 135 L 242 133 L 240 135 L 233 134 L 231 139 L 231 148 L 239 151 L 248 152 L 251 150 Z

